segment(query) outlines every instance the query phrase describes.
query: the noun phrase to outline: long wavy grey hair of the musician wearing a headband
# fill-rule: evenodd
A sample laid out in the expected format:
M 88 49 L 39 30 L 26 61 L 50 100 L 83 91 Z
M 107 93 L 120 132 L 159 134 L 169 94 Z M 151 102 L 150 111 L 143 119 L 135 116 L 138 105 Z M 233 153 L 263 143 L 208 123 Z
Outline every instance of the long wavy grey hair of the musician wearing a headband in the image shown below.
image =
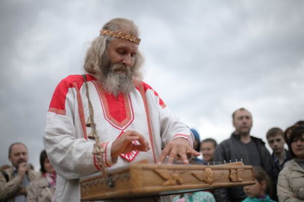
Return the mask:
M 131 35 L 138 37 L 138 28 L 133 23 L 133 21 L 125 18 L 115 18 L 102 27 L 102 29 L 110 29 L 113 31 L 128 30 Z M 115 37 L 107 35 L 99 35 L 94 39 L 91 44 L 91 47 L 88 49 L 84 64 L 84 69 L 87 73 L 95 76 L 97 80 L 102 79 L 106 72 L 108 71 L 107 65 L 109 62 L 107 54 L 108 43 L 113 40 Z M 138 52 L 135 56 L 134 65 L 131 67 L 132 79 L 137 82 L 142 80 L 142 73 L 140 68 L 144 64 L 143 55 Z M 101 81 L 102 82 L 102 81 Z

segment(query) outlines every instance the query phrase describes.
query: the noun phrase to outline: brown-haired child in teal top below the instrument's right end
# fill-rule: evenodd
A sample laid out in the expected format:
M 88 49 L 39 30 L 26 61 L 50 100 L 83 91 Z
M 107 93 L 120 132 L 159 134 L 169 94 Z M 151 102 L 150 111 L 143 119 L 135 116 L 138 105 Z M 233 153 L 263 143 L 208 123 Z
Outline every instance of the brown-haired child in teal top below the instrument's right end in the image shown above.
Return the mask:
M 260 167 L 254 167 L 255 184 L 244 186 L 244 192 L 248 196 L 243 202 L 275 202 L 269 196 L 270 178 Z

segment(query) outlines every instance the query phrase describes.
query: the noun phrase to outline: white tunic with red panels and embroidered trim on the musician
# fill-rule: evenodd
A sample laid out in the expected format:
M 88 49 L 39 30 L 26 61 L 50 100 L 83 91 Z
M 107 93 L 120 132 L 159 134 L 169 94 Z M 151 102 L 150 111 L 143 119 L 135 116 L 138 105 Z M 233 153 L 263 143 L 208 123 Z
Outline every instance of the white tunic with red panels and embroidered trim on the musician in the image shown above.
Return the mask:
M 158 94 L 141 83 L 129 95 L 106 93 L 96 79 L 87 74 L 94 120 L 101 144 L 105 147 L 106 167 L 119 167 L 130 161 L 156 163 L 162 148 L 174 138 L 186 138 L 192 145 L 189 129 L 173 117 Z M 88 139 L 89 116 L 82 75 L 70 75 L 58 84 L 47 113 L 45 149 L 57 172 L 56 201 L 80 201 L 79 179 L 98 171 L 92 154 L 94 141 Z M 127 130 L 142 134 L 150 145 L 147 152 L 132 151 L 112 162 L 112 142 Z

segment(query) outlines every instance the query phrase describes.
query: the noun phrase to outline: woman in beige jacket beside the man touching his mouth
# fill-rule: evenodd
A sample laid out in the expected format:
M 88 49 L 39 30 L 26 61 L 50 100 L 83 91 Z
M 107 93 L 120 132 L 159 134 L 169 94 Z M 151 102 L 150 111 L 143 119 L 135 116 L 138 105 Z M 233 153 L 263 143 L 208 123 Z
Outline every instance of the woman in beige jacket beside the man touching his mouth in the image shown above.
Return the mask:
M 43 150 L 40 154 L 42 178 L 30 183 L 27 191 L 27 201 L 53 201 L 56 185 L 56 172 L 51 165 L 47 153 Z

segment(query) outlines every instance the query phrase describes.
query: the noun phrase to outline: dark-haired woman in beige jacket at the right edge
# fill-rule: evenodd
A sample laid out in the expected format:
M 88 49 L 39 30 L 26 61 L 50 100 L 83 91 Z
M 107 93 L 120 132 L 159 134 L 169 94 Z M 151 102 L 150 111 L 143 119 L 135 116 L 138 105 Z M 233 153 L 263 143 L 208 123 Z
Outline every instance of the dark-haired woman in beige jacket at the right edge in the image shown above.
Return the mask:
M 291 160 L 278 178 L 279 201 L 304 200 L 304 126 L 295 127 L 289 137 Z

